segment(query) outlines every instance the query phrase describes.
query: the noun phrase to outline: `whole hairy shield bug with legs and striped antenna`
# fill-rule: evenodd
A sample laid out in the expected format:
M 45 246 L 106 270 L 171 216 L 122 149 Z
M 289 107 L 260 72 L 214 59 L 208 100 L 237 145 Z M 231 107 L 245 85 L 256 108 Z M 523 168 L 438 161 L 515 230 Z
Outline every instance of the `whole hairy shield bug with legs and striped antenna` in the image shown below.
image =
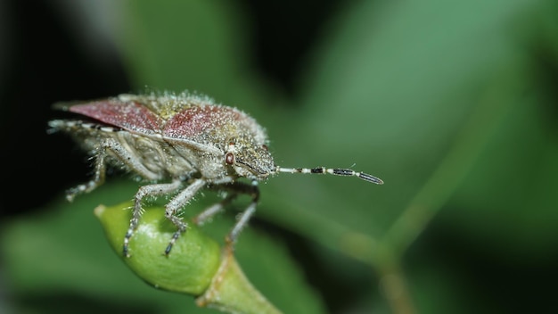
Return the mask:
M 178 214 L 202 189 L 226 191 L 221 202 L 193 219 L 201 224 L 223 210 L 239 194 L 251 198 L 226 236 L 233 245 L 259 198 L 258 181 L 279 172 L 332 174 L 357 177 L 381 185 L 380 178 L 352 169 L 283 168 L 277 166 L 267 149 L 267 134 L 246 113 L 215 103 L 204 95 L 149 94 L 117 97 L 76 104 L 58 104 L 72 112 L 74 120 L 51 120 L 49 132 L 70 134 L 94 157 L 94 176 L 67 191 L 71 202 L 78 194 L 93 191 L 105 180 L 107 167 L 132 171 L 148 184 L 135 194 L 134 209 L 122 244 L 128 245 L 138 227 L 142 202 L 146 197 L 172 195 L 165 205 L 165 217 L 176 226 L 164 253 L 186 230 Z

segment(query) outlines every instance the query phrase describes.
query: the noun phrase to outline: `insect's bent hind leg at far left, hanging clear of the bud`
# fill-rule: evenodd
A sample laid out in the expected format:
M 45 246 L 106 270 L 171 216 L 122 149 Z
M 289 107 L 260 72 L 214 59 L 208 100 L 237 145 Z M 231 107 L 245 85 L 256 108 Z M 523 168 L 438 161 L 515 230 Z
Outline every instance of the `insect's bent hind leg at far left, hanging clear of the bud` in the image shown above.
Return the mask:
M 104 138 L 96 149 L 94 156 L 94 178 L 89 182 L 70 188 L 66 192 L 66 199 L 72 202 L 78 194 L 89 193 L 96 187 L 103 185 L 106 173 L 106 157 L 112 153 L 119 161 L 122 161 L 130 169 L 135 170 L 144 178 L 156 179 L 159 176 L 149 169 L 145 168 L 141 162 L 127 151 L 125 147 L 120 145 L 119 141 L 114 138 Z

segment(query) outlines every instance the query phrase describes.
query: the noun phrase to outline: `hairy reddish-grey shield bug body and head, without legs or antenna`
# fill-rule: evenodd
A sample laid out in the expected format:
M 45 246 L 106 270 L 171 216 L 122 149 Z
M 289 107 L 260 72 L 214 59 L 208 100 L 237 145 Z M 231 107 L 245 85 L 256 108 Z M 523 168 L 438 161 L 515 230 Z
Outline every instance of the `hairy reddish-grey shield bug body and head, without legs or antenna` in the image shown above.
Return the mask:
M 101 124 L 71 122 L 65 130 L 92 153 L 103 141 L 114 138 L 138 162 L 152 170 L 153 174 L 140 173 L 147 179 L 153 179 L 154 173 L 158 175 L 156 179 L 161 179 L 189 176 L 194 172 L 209 180 L 223 179 L 234 175 L 230 165 L 223 162 L 228 150 L 237 150 L 239 161 L 246 167 L 259 169 L 256 177 L 267 177 L 275 169 L 275 163 L 260 148 L 267 142 L 264 129 L 245 113 L 208 101 L 196 96 L 122 95 L 66 108 Z M 62 120 L 56 121 L 63 124 Z M 105 123 L 114 128 L 103 128 Z M 258 153 L 253 156 L 250 152 Z M 255 157 L 257 161 L 250 161 Z M 266 160 L 265 166 L 260 159 Z M 250 162 L 255 164 L 250 166 Z M 238 170 L 242 177 L 253 177 Z

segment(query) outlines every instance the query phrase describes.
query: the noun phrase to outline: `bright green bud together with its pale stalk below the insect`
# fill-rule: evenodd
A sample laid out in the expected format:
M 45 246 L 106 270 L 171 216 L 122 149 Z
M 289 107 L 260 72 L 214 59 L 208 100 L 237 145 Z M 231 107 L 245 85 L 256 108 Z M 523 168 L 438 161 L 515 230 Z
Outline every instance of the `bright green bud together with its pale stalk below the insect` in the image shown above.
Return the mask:
M 127 232 L 132 203 L 98 206 L 94 214 L 101 220 L 111 247 L 138 277 L 156 288 L 197 297 L 201 307 L 230 313 L 281 313 L 255 289 L 234 259 L 230 246 L 219 244 L 190 224 L 185 235 L 164 250 L 176 227 L 160 207 L 145 208 L 129 243 L 130 257 L 122 244 Z

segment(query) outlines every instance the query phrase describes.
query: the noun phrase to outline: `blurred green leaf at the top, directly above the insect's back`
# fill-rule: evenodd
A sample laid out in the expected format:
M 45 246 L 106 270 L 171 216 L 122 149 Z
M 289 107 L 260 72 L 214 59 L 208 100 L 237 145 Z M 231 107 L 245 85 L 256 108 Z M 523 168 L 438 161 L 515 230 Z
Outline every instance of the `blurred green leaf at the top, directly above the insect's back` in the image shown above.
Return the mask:
M 234 3 L 136 0 L 123 12 L 120 50 L 137 91 L 189 90 L 252 114 L 265 103 L 267 87 L 250 71 L 245 19 Z

